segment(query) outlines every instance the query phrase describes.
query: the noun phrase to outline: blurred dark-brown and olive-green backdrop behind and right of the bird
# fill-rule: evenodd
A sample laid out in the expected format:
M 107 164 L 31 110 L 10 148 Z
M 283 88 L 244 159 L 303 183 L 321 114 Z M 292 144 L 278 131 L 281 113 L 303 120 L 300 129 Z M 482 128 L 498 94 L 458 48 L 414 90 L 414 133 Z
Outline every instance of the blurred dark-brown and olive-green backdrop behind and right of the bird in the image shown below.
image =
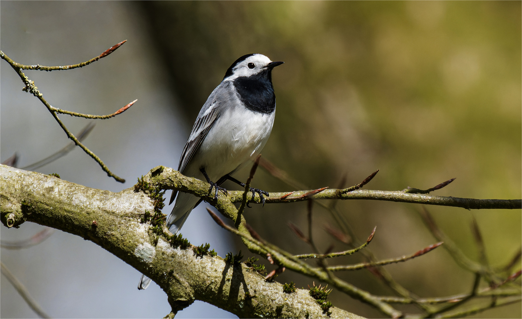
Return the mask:
M 520 198 L 520 2 L 146 2 L 141 8 L 190 123 L 235 58 L 262 53 L 285 62 L 273 74 L 277 113 L 263 156 L 310 188 L 335 187 L 343 175 L 354 185 L 378 168 L 370 189 L 426 189 L 456 177 L 435 194 Z M 245 179 L 248 169 L 238 176 Z M 258 172 L 255 187 L 292 190 Z M 315 207 L 314 236 L 326 249 L 333 239 L 322 226 L 335 223 Z M 379 258 L 435 242 L 419 209 L 338 204 L 360 238 L 377 225 L 371 249 Z M 492 265 L 508 262 L 520 247 L 519 210 L 428 209 L 472 259 L 472 215 Z M 304 253 L 309 248 L 286 224 L 304 230 L 305 212 L 304 204 L 256 206 L 247 220 L 264 238 Z M 239 249 L 245 250 L 240 243 Z M 472 284 L 472 274 L 443 249 L 387 267 L 423 297 L 468 291 Z M 366 271 L 343 278 L 392 293 Z M 312 281 L 290 272 L 279 277 L 290 280 L 298 287 Z M 331 299 L 354 313 L 381 316 L 340 293 Z M 478 316 L 520 317 L 520 304 Z

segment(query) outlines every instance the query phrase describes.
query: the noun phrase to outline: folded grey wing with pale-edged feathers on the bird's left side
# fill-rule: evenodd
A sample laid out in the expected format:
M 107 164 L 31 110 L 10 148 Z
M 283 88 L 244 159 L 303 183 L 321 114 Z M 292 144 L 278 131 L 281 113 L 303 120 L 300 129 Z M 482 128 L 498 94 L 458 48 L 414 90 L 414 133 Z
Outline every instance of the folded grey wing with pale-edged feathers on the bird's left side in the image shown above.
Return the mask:
M 214 93 L 214 92 L 213 92 Z M 180 164 L 177 167 L 177 170 L 183 174 L 183 171 L 187 167 L 188 163 L 194 157 L 194 154 L 199 149 L 199 146 L 207 136 L 208 132 L 212 128 L 212 125 L 216 122 L 220 115 L 219 111 L 219 103 L 215 99 L 211 99 L 214 94 L 209 96 L 207 103 L 201 108 L 201 111 L 198 114 L 196 122 L 192 127 L 191 135 L 188 137 L 187 142 L 185 143 L 185 147 L 183 148 L 183 153 L 181 154 Z M 209 103 L 211 102 L 211 103 Z M 172 195 L 170 197 L 169 205 L 172 204 L 174 199 L 176 198 L 177 191 L 172 191 Z

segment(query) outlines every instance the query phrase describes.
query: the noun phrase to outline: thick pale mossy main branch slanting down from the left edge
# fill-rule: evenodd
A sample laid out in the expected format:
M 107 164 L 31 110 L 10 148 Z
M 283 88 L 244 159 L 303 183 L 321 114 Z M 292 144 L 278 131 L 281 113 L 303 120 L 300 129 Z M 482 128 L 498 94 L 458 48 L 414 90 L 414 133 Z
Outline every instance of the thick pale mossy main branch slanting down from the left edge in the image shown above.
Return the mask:
M 156 181 L 169 170 L 159 173 L 156 168 L 144 179 L 158 187 Z M 208 190 L 207 183 L 177 174 L 170 178 L 179 190 L 201 195 Z M 151 232 L 151 225 L 141 221 L 146 211 L 150 218 L 156 207 L 143 191 L 130 188 L 113 193 L 5 165 L 0 166 L 0 178 L 0 217 L 5 226 L 29 221 L 98 244 L 154 280 L 167 293 L 173 313 L 197 299 L 240 317 L 327 317 L 306 290 L 289 295 L 283 285 L 267 283 L 244 264 L 196 256 L 192 249 L 183 249 L 188 247 L 185 241 L 169 235 L 164 225 L 162 231 L 171 238 Z M 225 211 L 234 206 L 223 201 L 220 207 Z M 174 242 L 180 246 L 172 247 Z M 329 311 L 333 318 L 359 317 L 335 307 Z

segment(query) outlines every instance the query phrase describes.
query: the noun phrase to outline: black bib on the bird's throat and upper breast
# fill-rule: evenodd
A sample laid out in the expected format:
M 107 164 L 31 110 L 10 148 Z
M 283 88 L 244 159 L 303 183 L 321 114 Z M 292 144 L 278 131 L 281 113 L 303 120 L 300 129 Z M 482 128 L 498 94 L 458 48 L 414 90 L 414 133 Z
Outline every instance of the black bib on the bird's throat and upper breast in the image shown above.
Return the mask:
M 251 111 L 270 114 L 276 109 L 276 94 L 272 87 L 271 69 L 250 77 L 232 80 L 239 99 Z

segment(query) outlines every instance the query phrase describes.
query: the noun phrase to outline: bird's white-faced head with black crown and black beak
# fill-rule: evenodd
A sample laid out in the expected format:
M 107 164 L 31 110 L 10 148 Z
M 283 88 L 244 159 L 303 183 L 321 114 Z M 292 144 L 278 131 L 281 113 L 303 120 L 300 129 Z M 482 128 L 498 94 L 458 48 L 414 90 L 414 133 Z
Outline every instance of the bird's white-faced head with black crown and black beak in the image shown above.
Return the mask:
M 246 54 L 235 60 L 228 68 L 223 81 L 230 81 L 239 77 L 250 77 L 258 73 L 270 76 L 273 68 L 284 62 L 272 62 L 268 57 L 259 53 Z

